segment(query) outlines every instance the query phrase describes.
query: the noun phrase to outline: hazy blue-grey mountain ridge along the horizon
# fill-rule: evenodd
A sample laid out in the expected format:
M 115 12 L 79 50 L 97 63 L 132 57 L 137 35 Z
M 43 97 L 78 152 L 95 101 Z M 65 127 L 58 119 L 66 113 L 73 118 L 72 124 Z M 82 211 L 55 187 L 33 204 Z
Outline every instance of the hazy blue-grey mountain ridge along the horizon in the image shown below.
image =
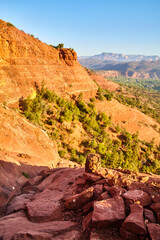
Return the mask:
M 133 78 L 160 79 L 159 56 L 102 53 L 78 59 L 84 67 L 93 70 L 118 71 L 119 75 Z M 107 76 L 108 74 L 107 72 Z

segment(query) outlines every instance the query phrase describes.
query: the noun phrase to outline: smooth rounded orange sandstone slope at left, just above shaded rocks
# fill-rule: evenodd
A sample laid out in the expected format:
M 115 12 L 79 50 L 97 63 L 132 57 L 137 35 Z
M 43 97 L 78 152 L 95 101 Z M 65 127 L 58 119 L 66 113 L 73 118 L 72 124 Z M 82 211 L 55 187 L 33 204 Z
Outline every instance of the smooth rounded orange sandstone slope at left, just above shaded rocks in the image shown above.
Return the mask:
M 11 109 L 0 107 L 0 159 L 55 167 L 57 147 L 40 128 Z

